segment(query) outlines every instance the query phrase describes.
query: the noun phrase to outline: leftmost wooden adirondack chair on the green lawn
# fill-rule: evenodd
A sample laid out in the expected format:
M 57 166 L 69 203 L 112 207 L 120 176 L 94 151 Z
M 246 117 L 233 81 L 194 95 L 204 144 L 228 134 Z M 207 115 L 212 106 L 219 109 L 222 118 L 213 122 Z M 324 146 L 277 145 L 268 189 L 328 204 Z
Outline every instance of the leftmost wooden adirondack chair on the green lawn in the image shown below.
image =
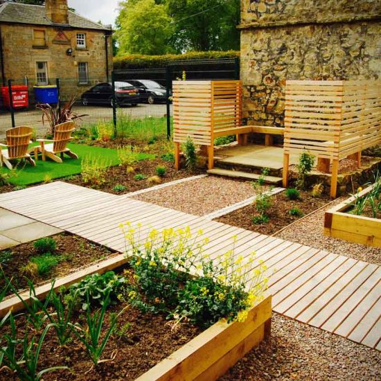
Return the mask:
M 0 150 L 0 165 L 3 163 L 9 169 L 12 169 L 10 160 L 26 159 L 32 166 L 35 166 L 35 161 L 28 154 L 28 145 L 32 143 L 30 138 L 33 134 L 33 128 L 26 125 L 13 127 L 6 130 L 6 144 L 0 143 L 1 147 L 6 147 L 6 150 Z

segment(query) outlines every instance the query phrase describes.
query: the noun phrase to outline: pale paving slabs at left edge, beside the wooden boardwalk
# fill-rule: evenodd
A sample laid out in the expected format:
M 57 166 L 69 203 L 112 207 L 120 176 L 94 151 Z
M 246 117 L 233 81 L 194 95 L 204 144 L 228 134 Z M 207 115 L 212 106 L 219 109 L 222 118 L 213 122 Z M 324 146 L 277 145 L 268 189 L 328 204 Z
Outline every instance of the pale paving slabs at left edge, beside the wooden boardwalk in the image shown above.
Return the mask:
M 0 208 L 0 249 L 8 249 L 20 243 L 62 233 L 61 229 L 52 227 L 25 217 L 18 213 Z

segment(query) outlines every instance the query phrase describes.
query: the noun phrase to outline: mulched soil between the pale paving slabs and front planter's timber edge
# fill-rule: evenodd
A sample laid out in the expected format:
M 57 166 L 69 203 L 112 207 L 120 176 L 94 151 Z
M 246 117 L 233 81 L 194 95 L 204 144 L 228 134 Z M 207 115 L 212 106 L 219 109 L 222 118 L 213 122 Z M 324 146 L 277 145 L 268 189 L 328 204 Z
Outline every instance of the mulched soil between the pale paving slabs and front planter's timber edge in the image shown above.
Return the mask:
M 71 236 L 67 233 L 62 233 L 53 236 L 53 238 L 57 242 L 56 251 L 54 254 L 59 256 L 64 255 L 67 258 L 54 267 L 50 274 L 33 278 L 33 283 L 35 285 L 48 281 L 50 278 L 67 275 L 78 267 L 89 265 L 96 260 L 113 255 L 112 251 L 109 251 L 109 249 L 96 245 L 78 236 Z M 29 274 L 23 274 L 22 268 L 28 263 L 30 257 L 38 255 L 33 247 L 33 242 L 24 243 L 10 249 L 2 250 L 0 251 L 0 254 L 5 251 L 11 251 L 12 258 L 6 263 L 1 264 L 4 274 L 6 274 L 8 278 L 12 278 L 12 283 L 14 285 L 18 285 L 19 289 L 27 287 L 28 283 L 26 282 L 24 275 L 29 277 Z M 0 287 L 3 287 L 4 285 L 5 282 L 3 277 L 1 277 Z

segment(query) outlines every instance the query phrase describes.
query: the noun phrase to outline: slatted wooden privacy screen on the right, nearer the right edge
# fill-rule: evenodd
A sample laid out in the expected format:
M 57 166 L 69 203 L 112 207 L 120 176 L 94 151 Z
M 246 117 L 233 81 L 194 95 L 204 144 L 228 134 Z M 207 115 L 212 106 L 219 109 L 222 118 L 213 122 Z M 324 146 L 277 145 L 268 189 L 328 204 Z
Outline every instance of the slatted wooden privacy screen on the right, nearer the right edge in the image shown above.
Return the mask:
M 381 81 L 287 80 L 284 136 L 283 185 L 290 153 L 307 151 L 332 161 L 335 197 L 339 160 L 381 143 Z

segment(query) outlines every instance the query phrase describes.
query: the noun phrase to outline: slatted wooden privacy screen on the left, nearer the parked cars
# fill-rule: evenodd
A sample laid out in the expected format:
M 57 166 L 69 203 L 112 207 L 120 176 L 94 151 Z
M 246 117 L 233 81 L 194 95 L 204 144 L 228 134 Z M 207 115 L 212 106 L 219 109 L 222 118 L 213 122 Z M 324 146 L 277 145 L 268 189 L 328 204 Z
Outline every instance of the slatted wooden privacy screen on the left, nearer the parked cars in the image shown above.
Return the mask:
M 242 86 L 239 80 L 174 81 L 173 141 L 209 147 L 215 137 L 240 133 Z M 212 158 L 213 159 L 213 158 Z

